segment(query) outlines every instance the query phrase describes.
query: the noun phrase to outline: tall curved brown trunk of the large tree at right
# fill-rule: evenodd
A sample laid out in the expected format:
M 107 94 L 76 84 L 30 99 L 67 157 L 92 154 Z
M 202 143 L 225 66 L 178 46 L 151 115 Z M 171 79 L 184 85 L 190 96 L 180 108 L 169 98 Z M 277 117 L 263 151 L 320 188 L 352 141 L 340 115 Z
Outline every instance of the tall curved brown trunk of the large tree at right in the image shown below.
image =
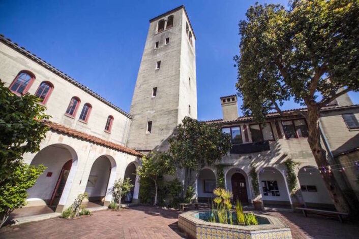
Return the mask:
M 326 173 L 321 172 L 320 176 L 324 181 L 326 188 L 334 202 L 334 206 L 338 212 L 349 213 L 349 206 L 344 198 L 338 182 L 334 178 L 333 173 L 330 173 L 328 162 L 326 160 L 326 152 L 320 144 L 320 130 L 319 130 L 319 109 L 316 104 L 307 104 L 308 107 L 308 143 L 312 150 L 315 162 L 318 165 L 319 170 L 325 168 Z

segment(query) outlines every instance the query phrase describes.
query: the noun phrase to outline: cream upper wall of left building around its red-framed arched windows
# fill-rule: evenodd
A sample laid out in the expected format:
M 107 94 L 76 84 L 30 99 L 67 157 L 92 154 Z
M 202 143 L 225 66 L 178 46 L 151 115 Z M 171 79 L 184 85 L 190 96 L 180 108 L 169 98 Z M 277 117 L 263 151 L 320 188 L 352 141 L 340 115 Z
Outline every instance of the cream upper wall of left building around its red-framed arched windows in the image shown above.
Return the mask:
M 2 42 L 0 42 L 0 62 L 0 79 L 5 82 L 6 86 L 10 86 L 17 74 L 22 70 L 31 71 L 36 77 L 34 83 L 28 89 L 30 94 L 35 94 L 43 81 L 49 81 L 53 84 L 53 91 L 46 103 L 46 114 L 51 115 L 51 121 L 96 135 L 105 140 L 126 145 L 131 120 L 124 114 Z M 101 80 L 106 81 L 106 79 Z M 81 100 L 75 119 L 65 115 L 73 96 L 77 96 Z M 78 120 L 85 103 L 92 105 L 87 124 Z M 114 118 L 111 133 L 104 131 L 109 115 Z

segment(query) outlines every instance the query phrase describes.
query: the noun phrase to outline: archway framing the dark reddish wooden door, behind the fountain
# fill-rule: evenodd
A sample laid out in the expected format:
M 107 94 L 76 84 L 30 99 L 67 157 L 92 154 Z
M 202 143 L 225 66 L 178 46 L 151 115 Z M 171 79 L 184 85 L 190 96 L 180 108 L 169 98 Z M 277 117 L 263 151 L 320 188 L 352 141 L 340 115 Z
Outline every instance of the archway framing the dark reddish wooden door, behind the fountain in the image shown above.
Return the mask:
M 251 201 L 250 184 L 244 170 L 237 167 L 230 168 L 226 173 L 226 184 L 227 190 L 233 194 L 233 201 L 237 198 L 244 204 Z

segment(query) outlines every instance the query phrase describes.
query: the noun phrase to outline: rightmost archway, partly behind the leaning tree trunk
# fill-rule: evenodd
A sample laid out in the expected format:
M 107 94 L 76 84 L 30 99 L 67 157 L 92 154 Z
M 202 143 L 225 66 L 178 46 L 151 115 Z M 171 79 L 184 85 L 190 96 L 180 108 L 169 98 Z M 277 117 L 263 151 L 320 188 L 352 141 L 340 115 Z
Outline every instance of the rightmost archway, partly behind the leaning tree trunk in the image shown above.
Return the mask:
M 298 180 L 301 184 L 302 196 L 306 207 L 335 209 L 331 196 L 316 167 L 302 167 L 298 171 Z

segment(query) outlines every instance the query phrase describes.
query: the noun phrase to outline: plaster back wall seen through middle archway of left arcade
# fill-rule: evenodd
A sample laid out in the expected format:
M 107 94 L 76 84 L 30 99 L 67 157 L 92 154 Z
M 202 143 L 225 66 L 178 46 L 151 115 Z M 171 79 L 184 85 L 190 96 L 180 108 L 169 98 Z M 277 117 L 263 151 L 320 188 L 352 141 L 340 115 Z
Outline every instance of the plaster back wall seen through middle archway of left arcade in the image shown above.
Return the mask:
M 90 176 L 97 176 L 95 187 L 90 187 L 87 182 L 85 189 L 89 197 L 105 196 L 110 170 L 111 163 L 107 157 L 102 156 L 96 159 L 89 174 Z

